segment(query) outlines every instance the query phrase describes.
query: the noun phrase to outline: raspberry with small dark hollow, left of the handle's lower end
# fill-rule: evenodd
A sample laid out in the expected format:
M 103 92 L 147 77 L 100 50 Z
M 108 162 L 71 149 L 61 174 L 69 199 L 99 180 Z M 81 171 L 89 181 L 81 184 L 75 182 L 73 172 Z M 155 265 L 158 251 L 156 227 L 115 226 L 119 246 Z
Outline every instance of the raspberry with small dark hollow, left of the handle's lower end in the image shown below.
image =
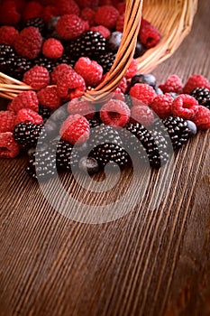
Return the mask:
M 57 81 L 58 93 L 61 98 L 79 98 L 86 90 L 85 80 L 76 71 L 64 71 Z

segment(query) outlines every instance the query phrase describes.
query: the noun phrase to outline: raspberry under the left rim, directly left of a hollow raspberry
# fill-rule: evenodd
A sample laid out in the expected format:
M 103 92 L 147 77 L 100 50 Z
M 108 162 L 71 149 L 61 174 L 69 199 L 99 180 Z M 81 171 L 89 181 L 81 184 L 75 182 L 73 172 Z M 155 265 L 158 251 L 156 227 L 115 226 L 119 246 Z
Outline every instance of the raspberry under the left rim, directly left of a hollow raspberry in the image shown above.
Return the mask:
M 51 110 L 59 107 L 61 104 L 58 90 L 55 86 L 41 88 L 41 90 L 37 92 L 37 98 L 41 106 L 49 107 Z

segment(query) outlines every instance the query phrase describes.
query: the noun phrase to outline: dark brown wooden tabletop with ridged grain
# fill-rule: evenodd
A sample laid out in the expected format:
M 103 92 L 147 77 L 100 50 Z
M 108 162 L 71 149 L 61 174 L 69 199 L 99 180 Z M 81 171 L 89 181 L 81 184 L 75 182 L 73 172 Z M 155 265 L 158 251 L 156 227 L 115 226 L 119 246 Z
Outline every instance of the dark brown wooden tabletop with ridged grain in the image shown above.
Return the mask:
M 153 71 L 159 83 L 172 73 L 183 81 L 193 73 L 210 79 L 209 16 L 208 1 L 199 1 L 192 32 Z M 0 315 L 210 315 L 209 140 L 209 132 L 199 132 L 179 151 L 156 209 L 150 201 L 160 172 L 152 172 L 132 211 L 95 225 L 53 209 L 25 174 L 23 156 L 2 159 Z M 62 183 L 91 209 L 116 201 L 129 179 L 125 172 L 117 188 L 98 194 L 68 175 Z M 57 186 L 48 185 L 64 208 Z

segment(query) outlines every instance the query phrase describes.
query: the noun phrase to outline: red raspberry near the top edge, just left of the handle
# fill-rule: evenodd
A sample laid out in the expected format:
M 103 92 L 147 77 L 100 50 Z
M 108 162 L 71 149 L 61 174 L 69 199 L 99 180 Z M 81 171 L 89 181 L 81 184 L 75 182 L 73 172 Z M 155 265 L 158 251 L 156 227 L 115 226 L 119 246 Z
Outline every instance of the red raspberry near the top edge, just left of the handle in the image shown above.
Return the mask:
M 95 22 L 98 25 L 104 25 L 109 30 L 114 29 L 119 12 L 113 5 L 102 5 L 96 10 Z

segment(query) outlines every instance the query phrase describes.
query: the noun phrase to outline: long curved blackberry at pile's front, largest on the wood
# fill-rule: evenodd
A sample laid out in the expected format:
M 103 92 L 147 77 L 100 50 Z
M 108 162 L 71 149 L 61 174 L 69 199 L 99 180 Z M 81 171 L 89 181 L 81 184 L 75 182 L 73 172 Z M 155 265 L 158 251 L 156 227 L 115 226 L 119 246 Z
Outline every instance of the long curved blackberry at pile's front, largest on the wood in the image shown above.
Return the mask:
M 126 130 L 131 132 L 141 142 L 143 150 L 141 150 L 142 161 L 149 160 L 151 167 L 160 168 L 169 160 L 167 141 L 159 132 L 151 132 L 139 123 L 126 125 Z

